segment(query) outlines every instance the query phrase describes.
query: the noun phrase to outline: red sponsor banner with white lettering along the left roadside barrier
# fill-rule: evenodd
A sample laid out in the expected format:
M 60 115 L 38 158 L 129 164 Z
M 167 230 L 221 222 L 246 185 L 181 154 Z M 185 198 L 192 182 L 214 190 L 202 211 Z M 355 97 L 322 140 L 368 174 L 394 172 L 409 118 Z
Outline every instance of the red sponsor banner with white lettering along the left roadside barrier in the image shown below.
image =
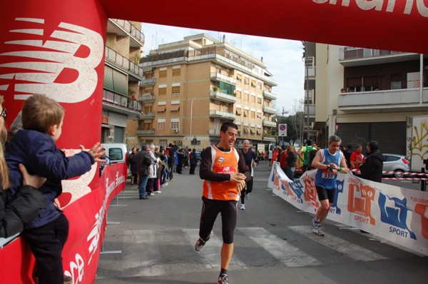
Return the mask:
M 63 248 L 63 270 L 73 283 L 93 283 L 96 276 L 108 206 L 125 188 L 126 165 L 106 166 L 100 186 L 63 209 L 69 233 Z M 1 283 L 33 283 L 34 256 L 22 238 L 0 249 Z

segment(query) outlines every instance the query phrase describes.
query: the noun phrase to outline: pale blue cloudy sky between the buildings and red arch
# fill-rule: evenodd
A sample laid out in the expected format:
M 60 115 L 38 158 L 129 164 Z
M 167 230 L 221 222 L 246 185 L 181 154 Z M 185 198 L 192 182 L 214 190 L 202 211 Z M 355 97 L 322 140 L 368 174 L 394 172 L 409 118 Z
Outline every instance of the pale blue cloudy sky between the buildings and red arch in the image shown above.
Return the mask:
M 272 39 L 261 36 L 248 36 L 230 34 L 221 31 L 203 31 L 199 29 L 186 29 L 174 26 L 162 26 L 156 24 L 141 25 L 145 36 L 144 56 L 151 49 L 157 49 L 160 44 L 181 41 L 185 36 L 195 34 L 208 34 L 221 41 L 225 35 L 226 42 L 235 48 L 250 54 L 255 59 L 263 57 L 267 71 L 277 81 L 278 86 L 272 88 L 272 93 L 277 95 L 276 108 L 279 114 L 282 108 L 293 114 L 296 101 L 305 96 L 305 66 L 302 61 L 302 42 L 286 39 Z

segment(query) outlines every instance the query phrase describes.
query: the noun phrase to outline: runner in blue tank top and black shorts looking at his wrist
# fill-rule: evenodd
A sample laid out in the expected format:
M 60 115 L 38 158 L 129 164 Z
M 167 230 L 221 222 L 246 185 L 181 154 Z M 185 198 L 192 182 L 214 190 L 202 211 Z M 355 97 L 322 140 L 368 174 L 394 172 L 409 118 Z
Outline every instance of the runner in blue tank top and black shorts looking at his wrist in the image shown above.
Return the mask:
M 330 136 L 328 148 L 317 151 L 312 161 L 312 168 L 317 168 L 315 187 L 321 203 L 315 218 L 312 219 L 312 232 L 321 236 L 324 236 L 321 223 L 327 218 L 330 207 L 335 201 L 337 173 L 348 171 L 343 153 L 339 151 L 341 142 L 339 136 Z

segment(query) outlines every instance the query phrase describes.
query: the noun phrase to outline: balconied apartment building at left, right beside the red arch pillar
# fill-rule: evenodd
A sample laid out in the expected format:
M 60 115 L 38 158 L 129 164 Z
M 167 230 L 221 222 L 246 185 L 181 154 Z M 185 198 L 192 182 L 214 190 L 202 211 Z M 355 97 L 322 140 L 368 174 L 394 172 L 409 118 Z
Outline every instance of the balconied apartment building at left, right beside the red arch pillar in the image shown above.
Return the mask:
M 136 128 L 141 114 L 138 66 L 144 35 L 141 23 L 108 19 L 103 86 L 102 143 L 136 145 Z

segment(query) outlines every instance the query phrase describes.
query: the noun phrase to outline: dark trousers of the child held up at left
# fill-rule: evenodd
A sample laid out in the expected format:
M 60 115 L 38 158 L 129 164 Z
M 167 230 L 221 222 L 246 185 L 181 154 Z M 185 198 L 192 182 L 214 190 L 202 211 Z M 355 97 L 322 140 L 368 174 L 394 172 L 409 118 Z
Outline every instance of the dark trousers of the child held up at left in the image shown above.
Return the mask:
M 62 249 L 68 237 L 68 220 L 63 213 L 40 228 L 22 234 L 36 258 L 39 284 L 63 284 Z

